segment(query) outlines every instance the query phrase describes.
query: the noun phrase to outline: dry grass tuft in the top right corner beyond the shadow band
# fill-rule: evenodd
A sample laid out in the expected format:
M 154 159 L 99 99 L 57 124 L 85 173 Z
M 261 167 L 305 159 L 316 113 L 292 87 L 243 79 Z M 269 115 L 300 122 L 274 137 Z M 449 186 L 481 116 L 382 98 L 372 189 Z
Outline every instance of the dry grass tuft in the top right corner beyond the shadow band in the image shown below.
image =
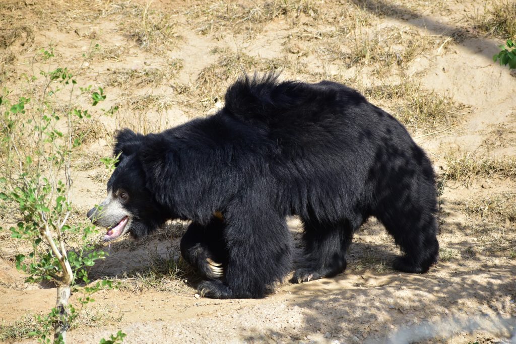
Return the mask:
M 516 39 L 516 1 L 493 0 L 485 14 L 474 19 L 476 25 L 503 39 Z

